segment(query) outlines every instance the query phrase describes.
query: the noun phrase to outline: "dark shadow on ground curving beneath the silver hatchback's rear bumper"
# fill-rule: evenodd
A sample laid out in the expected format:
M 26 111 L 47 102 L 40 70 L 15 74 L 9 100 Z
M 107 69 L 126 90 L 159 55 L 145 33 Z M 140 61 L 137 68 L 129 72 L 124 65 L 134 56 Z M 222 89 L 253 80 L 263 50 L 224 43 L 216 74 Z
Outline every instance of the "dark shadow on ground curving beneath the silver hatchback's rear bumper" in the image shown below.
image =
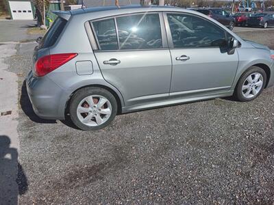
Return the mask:
M 22 88 L 21 88 L 21 97 L 20 97 L 20 105 L 24 113 L 29 117 L 30 120 L 33 122 L 38 123 L 49 123 L 54 124 L 57 123 L 56 120 L 44 120 L 42 118 L 39 118 L 36 113 L 34 113 L 34 109 L 32 108 L 32 103 L 29 100 L 29 96 L 27 95 L 27 87 L 26 87 L 26 81 L 23 82 Z

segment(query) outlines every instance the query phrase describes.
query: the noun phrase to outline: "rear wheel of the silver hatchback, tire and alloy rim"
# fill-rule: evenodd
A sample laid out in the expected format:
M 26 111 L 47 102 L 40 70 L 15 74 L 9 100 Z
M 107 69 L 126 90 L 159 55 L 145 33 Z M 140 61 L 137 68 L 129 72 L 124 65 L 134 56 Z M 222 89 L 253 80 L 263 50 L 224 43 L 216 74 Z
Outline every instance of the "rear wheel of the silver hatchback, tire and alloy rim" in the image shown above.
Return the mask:
M 71 98 L 69 113 L 75 126 L 83 131 L 96 131 L 114 120 L 117 113 L 116 98 L 101 87 L 85 87 Z

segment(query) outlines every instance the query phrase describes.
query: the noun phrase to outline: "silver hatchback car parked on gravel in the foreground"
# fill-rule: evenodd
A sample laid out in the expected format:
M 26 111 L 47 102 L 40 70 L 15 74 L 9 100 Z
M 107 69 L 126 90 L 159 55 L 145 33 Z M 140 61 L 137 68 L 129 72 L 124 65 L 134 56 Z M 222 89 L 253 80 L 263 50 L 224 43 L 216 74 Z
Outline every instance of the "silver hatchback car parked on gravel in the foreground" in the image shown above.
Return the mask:
M 117 113 L 234 96 L 274 84 L 274 53 L 212 18 L 140 5 L 55 12 L 34 51 L 27 92 L 40 118 L 85 131 Z

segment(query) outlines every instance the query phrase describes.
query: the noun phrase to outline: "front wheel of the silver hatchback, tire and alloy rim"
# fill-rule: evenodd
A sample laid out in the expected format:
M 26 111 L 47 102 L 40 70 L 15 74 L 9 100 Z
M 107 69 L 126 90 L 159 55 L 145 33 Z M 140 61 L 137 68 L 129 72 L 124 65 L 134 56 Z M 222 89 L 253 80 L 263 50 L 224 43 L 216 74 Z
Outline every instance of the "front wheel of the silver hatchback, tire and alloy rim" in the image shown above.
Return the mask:
M 257 81 L 256 77 L 258 76 L 260 76 L 260 78 Z M 251 79 L 247 79 L 248 77 L 251 77 Z M 250 81 L 251 83 L 249 83 Z M 262 82 L 259 83 L 259 81 Z M 251 66 L 247 71 L 242 74 L 242 76 L 238 80 L 238 83 L 234 90 L 234 98 L 242 102 L 254 100 L 258 96 L 260 96 L 262 90 L 264 90 L 265 85 L 266 72 L 264 72 L 264 70 L 260 67 Z M 255 90 L 253 90 L 253 88 Z

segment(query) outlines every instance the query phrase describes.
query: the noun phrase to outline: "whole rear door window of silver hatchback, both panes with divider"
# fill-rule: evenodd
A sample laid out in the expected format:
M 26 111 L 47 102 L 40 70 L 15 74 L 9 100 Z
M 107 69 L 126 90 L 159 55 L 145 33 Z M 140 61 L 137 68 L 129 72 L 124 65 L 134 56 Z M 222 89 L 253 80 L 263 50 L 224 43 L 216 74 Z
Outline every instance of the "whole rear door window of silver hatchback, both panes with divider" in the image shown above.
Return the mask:
M 162 48 L 159 14 L 134 14 L 95 20 L 92 27 L 100 50 Z

